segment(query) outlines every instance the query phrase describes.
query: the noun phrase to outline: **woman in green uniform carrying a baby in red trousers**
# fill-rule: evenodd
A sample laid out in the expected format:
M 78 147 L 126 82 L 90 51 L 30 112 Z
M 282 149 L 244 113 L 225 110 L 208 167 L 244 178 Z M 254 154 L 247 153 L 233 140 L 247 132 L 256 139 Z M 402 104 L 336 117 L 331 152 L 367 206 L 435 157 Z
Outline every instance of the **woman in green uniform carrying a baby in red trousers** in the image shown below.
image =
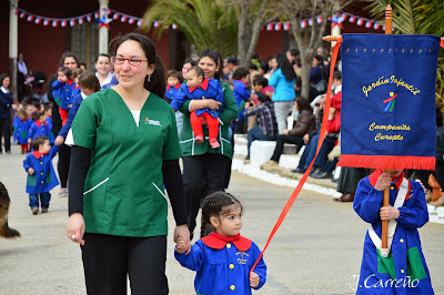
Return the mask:
M 205 78 L 220 79 L 222 73 L 222 59 L 218 51 L 204 50 L 199 55 L 198 65 L 203 69 Z M 195 110 L 209 108 L 219 110 L 220 102 L 212 99 L 185 101 L 180 111 L 183 113 L 183 128 L 181 135 L 183 160 L 183 184 L 185 186 L 188 226 L 194 231 L 195 217 L 200 202 L 203 197 L 216 191 L 225 189 L 225 171 L 233 155 L 233 149 L 229 138 L 230 122 L 238 118 L 238 104 L 230 85 L 221 82 L 223 90 L 222 113 L 219 116 L 219 144 L 220 148 L 211 149 L 209 141 L 194 142 L 191 129 L 190 113 Z M 208 128 L 203 130 L 208 138 Z

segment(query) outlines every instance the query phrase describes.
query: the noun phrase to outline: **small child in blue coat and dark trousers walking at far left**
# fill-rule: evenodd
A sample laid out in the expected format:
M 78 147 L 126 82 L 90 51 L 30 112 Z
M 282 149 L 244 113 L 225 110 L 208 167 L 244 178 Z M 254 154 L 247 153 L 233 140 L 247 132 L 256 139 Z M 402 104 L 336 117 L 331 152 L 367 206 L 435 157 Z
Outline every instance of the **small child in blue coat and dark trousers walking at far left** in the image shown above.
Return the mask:
M 37 136 L 32 140 L 31 146 L 34 151 L 27 155 L 23 167 L 28 172 L 29 206 L 32 214 L 36 215 L 39 213 L 39 195 L 41 213 L 47 213 L 51 200 L 49 191 L 59 185 L 59 180 L 52 166 L 52 157 L 56 156 L 60 146 L 51 148 L 47 136 Z

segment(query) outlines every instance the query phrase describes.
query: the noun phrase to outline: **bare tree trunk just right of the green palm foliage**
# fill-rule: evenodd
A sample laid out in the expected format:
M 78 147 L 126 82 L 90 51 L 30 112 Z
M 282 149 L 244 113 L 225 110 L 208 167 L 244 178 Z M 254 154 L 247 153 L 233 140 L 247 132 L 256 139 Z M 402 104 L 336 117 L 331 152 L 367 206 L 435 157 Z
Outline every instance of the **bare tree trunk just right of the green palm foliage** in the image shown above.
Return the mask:
M 240 64 L 249 68 L 258 45 L 261 28 L 282 14 L 281 2 L 273 0 L 231 0 L 236 12 L 238 55 Z

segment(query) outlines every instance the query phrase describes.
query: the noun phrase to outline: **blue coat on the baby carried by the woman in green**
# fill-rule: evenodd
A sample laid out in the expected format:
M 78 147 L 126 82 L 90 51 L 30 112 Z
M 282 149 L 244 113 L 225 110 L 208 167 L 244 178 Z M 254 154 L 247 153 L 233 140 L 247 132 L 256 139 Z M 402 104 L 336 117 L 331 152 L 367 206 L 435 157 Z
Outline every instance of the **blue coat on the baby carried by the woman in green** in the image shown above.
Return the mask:
M 198 88 L 189 88 L 186 83 L 183 83 L 175 98 L 171 102 L 171 108 L 174 110 L 179 110 L 182 103 L 185 100 L 204 100 L 204 99 L 213 99 L 223 103 L 223 91 L 221 83 L 214 79 L 204 79 L 200 87 Z M 204 112 L 208 112 L 213 118 L 219 118 L 220 113 L 222 112 L 222 105 L 219 106 L 219 111 L 215 112 L 210 109 L 201 109 L 195 111 L 195 115 L 201 115 Z

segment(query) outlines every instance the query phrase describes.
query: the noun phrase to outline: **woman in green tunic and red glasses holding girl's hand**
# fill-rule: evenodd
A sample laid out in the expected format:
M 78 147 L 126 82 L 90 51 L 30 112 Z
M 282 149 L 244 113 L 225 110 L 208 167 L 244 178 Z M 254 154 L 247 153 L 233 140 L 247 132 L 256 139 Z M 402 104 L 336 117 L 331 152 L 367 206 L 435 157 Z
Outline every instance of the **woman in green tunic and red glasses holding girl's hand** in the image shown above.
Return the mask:
M 72 123 L 67 235 L 88 294 L 127 294 L 127 275 L 132 294 L 168 294 L 168 199 L 174 241 L 190 246 L 174 113 L 153 42 L 130 33 L 115 49 L 119 84 L 88 96 Z

